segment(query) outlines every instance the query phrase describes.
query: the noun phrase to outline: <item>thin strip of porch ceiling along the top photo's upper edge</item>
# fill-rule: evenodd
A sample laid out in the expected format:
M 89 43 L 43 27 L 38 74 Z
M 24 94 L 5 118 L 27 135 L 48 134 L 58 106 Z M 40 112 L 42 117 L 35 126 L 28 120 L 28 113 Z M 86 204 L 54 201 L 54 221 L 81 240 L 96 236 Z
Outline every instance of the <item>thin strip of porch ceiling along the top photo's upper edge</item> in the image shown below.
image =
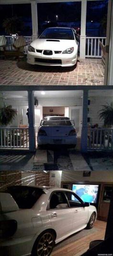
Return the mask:
M 23 4 L 31 3 L 34 0 L 0 0 L 0 4 Z M 81 2 L 82 0 L 35 0 L 37 3 L 52 3 L 52 2 Z M 99 1 L 99 0 L 88 0 Z M 104 0 L 102 0 L 104 1 Z

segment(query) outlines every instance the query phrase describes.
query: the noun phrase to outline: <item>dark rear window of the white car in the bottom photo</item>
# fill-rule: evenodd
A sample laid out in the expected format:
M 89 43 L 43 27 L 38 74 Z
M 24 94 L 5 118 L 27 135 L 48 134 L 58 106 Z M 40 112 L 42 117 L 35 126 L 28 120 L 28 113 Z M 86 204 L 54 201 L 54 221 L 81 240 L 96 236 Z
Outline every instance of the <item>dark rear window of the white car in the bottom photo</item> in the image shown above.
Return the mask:
M 39 197 L 44 193 L 43 189 L 15 186 L 6 191 L 11 194 L 20 209 L 30 209 Z

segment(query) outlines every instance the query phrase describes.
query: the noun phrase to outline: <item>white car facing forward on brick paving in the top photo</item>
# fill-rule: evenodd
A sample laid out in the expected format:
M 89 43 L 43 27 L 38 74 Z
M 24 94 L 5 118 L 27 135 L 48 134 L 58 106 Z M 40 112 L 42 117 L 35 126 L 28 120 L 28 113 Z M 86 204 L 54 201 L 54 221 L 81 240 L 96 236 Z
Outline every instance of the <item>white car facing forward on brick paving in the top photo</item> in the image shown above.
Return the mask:
M 27 63 L 71 67 L 77 62 L 78 36 L 69 27 L 49 27 L 28 49 Z

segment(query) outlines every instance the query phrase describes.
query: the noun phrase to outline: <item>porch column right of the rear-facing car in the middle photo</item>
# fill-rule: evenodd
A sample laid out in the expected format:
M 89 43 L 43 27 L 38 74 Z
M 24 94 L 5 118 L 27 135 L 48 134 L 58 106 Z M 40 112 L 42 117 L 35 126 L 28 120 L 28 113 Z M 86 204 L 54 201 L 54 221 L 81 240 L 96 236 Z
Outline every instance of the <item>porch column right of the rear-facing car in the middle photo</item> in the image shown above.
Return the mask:
M 83 91 L 83 118 L 81 131 L 81 151 L 87 152 L 88 145 L 88 90 Z

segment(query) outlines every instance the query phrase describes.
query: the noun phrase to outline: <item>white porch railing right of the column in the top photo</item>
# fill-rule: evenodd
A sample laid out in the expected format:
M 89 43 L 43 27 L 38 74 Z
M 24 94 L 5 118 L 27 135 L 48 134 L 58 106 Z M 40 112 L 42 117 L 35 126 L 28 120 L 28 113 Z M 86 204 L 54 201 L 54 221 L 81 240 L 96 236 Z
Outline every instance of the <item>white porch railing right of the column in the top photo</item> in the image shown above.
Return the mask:
M 100 41 L 106 45 L 106 37 L 86 37 L 86 57 L 101 58 Z

